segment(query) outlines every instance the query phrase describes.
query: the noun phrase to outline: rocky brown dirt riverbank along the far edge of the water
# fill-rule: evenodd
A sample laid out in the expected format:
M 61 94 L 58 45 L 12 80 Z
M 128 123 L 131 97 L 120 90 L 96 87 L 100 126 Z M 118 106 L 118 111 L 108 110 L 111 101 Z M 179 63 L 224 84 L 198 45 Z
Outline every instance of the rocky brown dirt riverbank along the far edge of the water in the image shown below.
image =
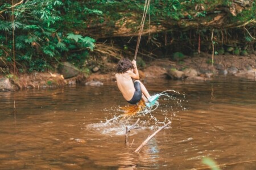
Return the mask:
M 171 61 L 170 58 L 152 59 L 146 66 L 139 68 L 141 79 L 173 79 L 185 81 L 205 81 L 218 75 L 232 75 L 241 78 L 256 78 L 256 56 L 217 55 L 201 53 L 200 56 L 185 56 L 181 61 Z M 59 73 L 32 73 L 18 76 L 0 75 L 0 91 L 19 90 L 24 88 L 62 87 L 68 84 L 84 84 L 88 86 L 102 86 L 109 81 L 115 81 L 115 63 L 108 64 L 108 73 L 98 70 L 85 76 L 79 74 L 65 79 Z

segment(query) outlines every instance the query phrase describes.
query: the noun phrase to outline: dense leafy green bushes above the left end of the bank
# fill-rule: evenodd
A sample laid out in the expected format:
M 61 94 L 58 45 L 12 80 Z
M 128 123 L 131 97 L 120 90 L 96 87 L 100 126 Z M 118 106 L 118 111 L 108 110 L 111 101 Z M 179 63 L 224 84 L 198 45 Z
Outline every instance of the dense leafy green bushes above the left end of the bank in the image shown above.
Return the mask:
M 4 11 L 0 19 L 0 54 L 5 54 L 2 61 L 7 65 L 13 63 L 14 30 L 18 70 L 47 71 L 61 60 L 84 65 L 95 40 L 75 33 L 74 23 L 80 23 L 77 25 L 81 29 L 85 16 L 102 15 L 101 11 L 91 10 L 86 3 L 78 1 L 31 0 L 14 8 L 13 21 L 10 3 L 6 1 L 0 7 L 0 11 Z M 9 53 L 3 51 L 3 46 L 10 49 Z

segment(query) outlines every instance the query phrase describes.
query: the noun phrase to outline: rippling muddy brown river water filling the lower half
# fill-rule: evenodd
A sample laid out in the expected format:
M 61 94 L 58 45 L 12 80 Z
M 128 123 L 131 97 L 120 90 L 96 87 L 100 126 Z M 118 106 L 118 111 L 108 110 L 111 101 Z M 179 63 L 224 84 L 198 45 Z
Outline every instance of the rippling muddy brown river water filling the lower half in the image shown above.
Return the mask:
M 0 169 L 256 169 L 256 82 L 145 81 L 155 111 L 121 118 L 115 82 L 0 93 Z M 140 118 L 125 144 L 125 127 Z M 136 148 L 156 131 L 139 153 Z

